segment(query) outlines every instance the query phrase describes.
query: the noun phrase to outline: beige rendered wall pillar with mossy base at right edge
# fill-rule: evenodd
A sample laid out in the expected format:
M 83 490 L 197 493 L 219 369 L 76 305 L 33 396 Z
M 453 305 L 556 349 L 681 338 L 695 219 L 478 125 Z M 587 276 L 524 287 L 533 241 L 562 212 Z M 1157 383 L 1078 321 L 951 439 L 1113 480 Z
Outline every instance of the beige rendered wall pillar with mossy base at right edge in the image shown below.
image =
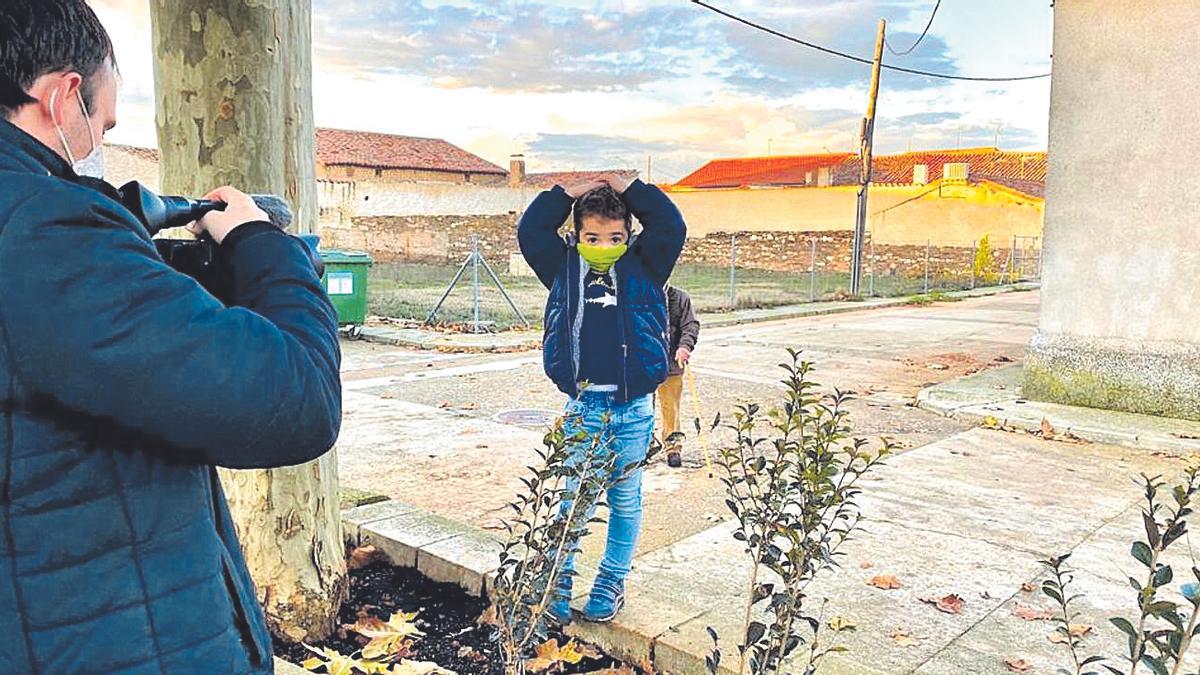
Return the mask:
M 1200 2 L 1055 6 L 1025 395 L 1200 419 Z

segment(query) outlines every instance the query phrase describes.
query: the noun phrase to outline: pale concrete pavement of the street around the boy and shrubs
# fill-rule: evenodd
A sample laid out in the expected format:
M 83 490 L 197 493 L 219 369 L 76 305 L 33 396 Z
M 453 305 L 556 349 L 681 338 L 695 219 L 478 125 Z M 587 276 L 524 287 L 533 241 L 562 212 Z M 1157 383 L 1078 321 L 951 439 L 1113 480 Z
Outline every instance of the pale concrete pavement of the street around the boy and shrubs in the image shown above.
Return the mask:
M 866 531 L 847 544 L 844 569 L 811 589 L 814 599 L 829 598 L 827 617 L 857 625 L 827 634 L 850 652 L 830 657 L 823 671 L 1006 673 L 1010 658 L 1033 663 L 1030 673 L 1052 673 L 1050 665 L 1063 662 L 1061 645 L 1046 639 L 1051 626 L 1018 619 L 1013 609 L 1018 603 L 1046 607 L 1021 585 L 1038 577 L 1039 558 L 1068 550 L 1076 551 L 1072 561 L 1088 592 L 1080 605 L 1094 631 L 1088 649 L 1120 646 L 1106 617 L 1128 614 L 1134 602 L 1123 581 L 1127 572 L 1138 573 L 1128 555 L 1140 532 L 1139 491 L 1130 478 L 1142 471 L 1176 474 L 1181 460 L 971 429 L 972 420 L 916 407 L 924 388 L 974 372 L 991 377 L 996 366 L 1019 360 L 1036 309 L 1036 293 L 1015 293 L 702 333 L 695 362 L 702 417 L 739 401 L 770 400 L 778 394 L 774 364 L 785 359 L 785 346 L 800 346 L 827 388 L 859 393 L 852 410 L 859 432 L 898 436 L 912 448 L 870 480 L 863 500 Z M 536 429 L 505 424 L 498 413 L 516 407 L 552 412 L 562 405 L 538 357 L 347 346 L 343 482 L 437 519 L 410 539 L 434 537 L 410 548 L 436 574 L 455 568 L 458 549 L 473 556 L 469 565 L 486 567 L 486 542 L 451 530 L 494 528 L 540 441 Z M 698 673 L 709 645 L 707 626 L 721 633 L 727 649 L 736 643 L 746 562 L 724 522 L 721 485 L 707 477 L 694 440 L 683 471 L 654 465 L 646 485 L 646 530 L 629 605 L 614 625 L 578 629 L 635 662 Z M 409 537 L 403 522 L 390 524 L 390 532 Z M 584 543 L 584 558 L 595 560 L 601 540 L 596 532 Z M 425 550 L 439 542 L 440 550 Z M 1189 567 L 1187 551 L 1180 554 L 1177 578 Z M 901 589 L 868 586 L 875 574 L 896 575 Z M 919 599 L 948 593 L 964 598 L 961 614 L 940 613 Z

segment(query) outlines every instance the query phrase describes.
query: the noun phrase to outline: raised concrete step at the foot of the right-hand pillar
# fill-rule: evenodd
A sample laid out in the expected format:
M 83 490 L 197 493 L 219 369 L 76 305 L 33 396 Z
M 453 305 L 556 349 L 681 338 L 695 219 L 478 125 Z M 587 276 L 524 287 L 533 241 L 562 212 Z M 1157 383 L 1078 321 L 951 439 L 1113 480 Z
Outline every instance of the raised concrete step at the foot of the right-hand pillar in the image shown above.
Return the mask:
M 1048 420 L 1056 432 L 1094 443 L 1174 454 L 1200 453 L 1200 422 L 1030 401 L 1021 398 L 1021 365 L 970 375 L 923 389 L 924 410 L 976 424 L 995 423 L 1040 431 Z

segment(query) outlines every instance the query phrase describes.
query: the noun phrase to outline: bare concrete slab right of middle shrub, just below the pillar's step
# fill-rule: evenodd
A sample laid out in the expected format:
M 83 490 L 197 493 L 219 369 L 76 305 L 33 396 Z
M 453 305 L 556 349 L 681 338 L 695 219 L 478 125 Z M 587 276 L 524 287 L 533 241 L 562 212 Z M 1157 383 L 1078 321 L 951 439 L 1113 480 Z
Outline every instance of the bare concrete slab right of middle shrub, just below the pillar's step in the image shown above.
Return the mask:
M 974 537 L 1046 557 L 1116 518 L 1136 497 L 1135 466 L 1176 462 L 973 429 L 889 459 L 862 483 L 872 522 Z

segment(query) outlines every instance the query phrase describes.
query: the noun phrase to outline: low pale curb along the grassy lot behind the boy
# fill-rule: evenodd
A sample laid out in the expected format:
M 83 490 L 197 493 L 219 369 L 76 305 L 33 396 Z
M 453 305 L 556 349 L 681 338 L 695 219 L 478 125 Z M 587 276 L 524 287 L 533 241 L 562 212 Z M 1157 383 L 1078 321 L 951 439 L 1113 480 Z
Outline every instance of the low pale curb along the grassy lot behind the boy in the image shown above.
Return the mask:
M 972 291 L 950 291 L 944 295 L 947 298 L 959 299 L 985 298 L 1002 293 L 1033 291 L 1039 287 L 1040 285 L 1036 282 L 1021 282 L 1006 286 L 991 286 L 988 288 L 976 288 Z M 790 318 L 804 318 L 808 316 L 828 316 L 835 313 L 900 307 L 907 305 L 910 298 L 912 298 L 912 295 L 900 295 L 896 298 L 871 298 L 862 301 L 808 303 L 803 305 L 781 306 L 766 310 L 701 312 L 700 321 L 706 328 L 726 328 L 730 325 L 785 321 Z M 365 342 L 389 345 L 392 347 L 470 353 L 522 352 L 541 348 L 540 335 L 530 335 L 526 339 L 515 339 L 511 338 L 511 334 L 498 333 L 494 334 L 491 340 L 473 338 L 474 336 L 468 335 L 454 336 L 422 329 L 400 330 L 386 327 L 364 327 L 359 339 Z

